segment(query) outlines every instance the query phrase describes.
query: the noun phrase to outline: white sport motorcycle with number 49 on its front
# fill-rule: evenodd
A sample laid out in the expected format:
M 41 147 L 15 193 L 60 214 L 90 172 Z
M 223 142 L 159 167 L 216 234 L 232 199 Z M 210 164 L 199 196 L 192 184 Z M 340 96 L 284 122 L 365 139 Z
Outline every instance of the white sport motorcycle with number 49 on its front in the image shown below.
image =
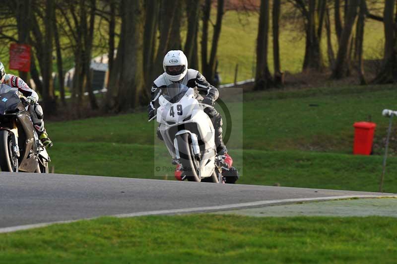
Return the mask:
M 214 127 L 199 103 L 195 91 L 175 83 L 159 96 L 157 118 L 159 131 L 173 158 L 182 165 L 187 179 L 193 182 L 223 183 L 223 157 L 216 155 Z

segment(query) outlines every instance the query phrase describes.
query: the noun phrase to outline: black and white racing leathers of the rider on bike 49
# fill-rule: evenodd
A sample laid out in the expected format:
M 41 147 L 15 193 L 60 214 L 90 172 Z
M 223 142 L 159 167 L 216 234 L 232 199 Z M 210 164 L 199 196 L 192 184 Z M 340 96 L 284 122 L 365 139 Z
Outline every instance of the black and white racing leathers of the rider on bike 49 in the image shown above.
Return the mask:
M 160 95 L 164 92 L 164 88 L 172 83 L 173 82 L 167 78 L 165 73 L 161 74 L 154 80 L 151 88 L 151 100 L 147 106 L 149 113 L 159 107 L 158 99 Z M 188 69 L 186 76 L 182 80 L 178 81 L 178 83 L 184 84 L 189 88 L 193 88 L 195 91 L 195 98 L 199 101 L 203 100 L 205 97 L 210 98 L 212 101 L 218 99 L 218 89 L 212 86 L 198 70 Z M 227 149 L 222 140 L 222 116 L 214 107 L 207 107 L 204 109 L 204 112 L 211 119 L 215 129 L 215 144 L 217 152 L 222 154 L 226 153 Z M 157 134 L 161 139 L 161 135 L 159 133 Z

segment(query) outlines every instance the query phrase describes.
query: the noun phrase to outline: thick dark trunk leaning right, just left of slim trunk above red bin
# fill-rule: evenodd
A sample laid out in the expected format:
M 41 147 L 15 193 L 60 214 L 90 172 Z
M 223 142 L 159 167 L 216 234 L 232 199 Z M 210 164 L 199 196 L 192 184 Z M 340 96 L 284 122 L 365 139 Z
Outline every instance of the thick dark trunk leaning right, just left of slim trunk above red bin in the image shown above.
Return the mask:
M 340 36 L 340 42 L 338 47 L 338 53 L 336 56 L 335 66 L 332 70 L 332 78 L 340 79 L 345 77 L 349 71 L 348 60 L 350 56 L 349 48 L 351 41 L 351 32 L 354 22 L 357 17 L 357 7 L 360 0 L 349 0 L 348 10 L 346 17 L 346 23 L 343 27 L 342 34 Z

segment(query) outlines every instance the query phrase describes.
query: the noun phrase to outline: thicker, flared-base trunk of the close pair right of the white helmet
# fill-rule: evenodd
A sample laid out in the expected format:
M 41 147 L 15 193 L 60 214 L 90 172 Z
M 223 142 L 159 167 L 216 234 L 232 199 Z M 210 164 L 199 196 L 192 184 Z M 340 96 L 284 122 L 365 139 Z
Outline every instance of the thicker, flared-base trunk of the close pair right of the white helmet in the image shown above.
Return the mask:
M 267 41 L 269 31 L 269 0 L 261 0 L 257 37 L 257 72 L 255 76 L 256 90 L 264 90 L 273 86 L 273 80 L 267 65 Z

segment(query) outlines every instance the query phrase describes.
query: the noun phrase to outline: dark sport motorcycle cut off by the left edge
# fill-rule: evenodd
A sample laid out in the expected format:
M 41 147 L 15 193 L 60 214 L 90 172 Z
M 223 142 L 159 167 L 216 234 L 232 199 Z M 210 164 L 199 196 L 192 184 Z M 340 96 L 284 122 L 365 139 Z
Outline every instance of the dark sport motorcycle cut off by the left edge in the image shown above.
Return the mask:
M 0 168 L 48 173 L 50 156 L 41 143 L 18 89 L 0 84 Z

